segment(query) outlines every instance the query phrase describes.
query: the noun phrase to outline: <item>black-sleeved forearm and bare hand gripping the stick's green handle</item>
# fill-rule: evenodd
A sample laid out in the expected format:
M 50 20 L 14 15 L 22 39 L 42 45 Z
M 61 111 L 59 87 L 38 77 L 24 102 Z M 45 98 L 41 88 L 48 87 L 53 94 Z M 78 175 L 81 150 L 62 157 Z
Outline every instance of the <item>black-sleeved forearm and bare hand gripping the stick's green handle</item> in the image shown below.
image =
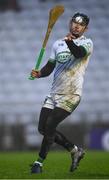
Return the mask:
M 55 68 L 56 63 L 55 62 L 51 62 L 50 60 L 47 62 L 47 64 L 40 70 L 32 70 L 31 75 L 34 78 L 41 78 L 41 77 L 46 77 L 49 76 L 54 68 Z

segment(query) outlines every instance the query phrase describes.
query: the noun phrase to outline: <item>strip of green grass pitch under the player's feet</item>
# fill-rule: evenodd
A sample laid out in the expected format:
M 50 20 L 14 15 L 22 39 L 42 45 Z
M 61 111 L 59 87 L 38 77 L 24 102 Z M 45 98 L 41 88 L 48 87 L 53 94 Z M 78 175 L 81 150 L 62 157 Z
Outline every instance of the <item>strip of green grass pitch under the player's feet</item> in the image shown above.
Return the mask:
M 42 174 L 30 174 L 35 152 L 0 153 L 0 179 L 109 179 L 109 153 L 86 152 L 78 169 L 71 173 L 68 152 L 50 152 Z

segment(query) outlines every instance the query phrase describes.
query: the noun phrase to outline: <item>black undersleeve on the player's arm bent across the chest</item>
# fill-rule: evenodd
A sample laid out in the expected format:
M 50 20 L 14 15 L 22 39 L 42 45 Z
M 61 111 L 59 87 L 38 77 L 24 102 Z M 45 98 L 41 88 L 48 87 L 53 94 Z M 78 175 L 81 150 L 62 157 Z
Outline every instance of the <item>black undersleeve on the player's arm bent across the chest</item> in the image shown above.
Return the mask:
M 87 55 L 87 51 L 83 46 L 77 46 L 73 41 L 65 40 L 68 48 L 75 58 L 83 58 Z

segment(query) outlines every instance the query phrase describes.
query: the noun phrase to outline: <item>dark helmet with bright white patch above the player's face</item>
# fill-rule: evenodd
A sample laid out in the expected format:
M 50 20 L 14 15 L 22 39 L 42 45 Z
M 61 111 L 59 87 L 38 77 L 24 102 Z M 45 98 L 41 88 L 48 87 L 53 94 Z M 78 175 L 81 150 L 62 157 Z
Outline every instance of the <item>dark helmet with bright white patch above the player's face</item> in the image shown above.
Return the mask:
M 80 19 L 78 19 L 80 18 Z M 79 21 L 80 20 L 80 21 Z M 76 13 L 72 17 L 72 21 L 88 26 L 90 18 L 83 13 Z

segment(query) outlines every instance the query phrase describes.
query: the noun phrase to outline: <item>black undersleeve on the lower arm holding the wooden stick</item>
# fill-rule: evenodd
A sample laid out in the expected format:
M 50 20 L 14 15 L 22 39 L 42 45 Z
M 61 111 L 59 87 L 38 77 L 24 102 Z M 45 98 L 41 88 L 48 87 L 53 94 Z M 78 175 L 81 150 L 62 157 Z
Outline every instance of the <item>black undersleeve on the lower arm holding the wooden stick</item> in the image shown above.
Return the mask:
M 41 76 L 40 77 L 49 76 L 53 72 L 55 65 L 56 65 L 56 62 L 52 63 L 52 62 L 48 61 L 47 64 L 41 69 L 41 71 L 40 71 Z

